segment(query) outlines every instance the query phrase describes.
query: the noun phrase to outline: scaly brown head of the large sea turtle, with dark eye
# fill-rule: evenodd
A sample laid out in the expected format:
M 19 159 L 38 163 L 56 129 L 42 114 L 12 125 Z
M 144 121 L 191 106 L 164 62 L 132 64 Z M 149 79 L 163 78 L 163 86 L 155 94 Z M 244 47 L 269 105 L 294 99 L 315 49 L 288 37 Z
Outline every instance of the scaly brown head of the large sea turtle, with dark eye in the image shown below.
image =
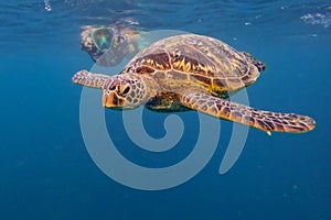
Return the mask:
M 147 81 L 134 74 L 109 77 L 103 88 L 103 105 L 106 108 L 132 109 L 150 99 Z

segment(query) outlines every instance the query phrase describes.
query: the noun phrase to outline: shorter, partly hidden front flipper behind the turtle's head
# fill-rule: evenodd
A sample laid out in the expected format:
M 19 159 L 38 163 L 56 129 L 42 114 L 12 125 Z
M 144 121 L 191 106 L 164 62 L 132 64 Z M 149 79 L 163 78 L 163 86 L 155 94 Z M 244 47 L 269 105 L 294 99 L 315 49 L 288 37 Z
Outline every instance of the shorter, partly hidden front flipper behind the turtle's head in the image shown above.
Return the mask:
M 107 75 L 92 74 L 87 70 L 79 70 L 73 76 L 72 80 L 74 84 L 102 89 L 108 78 L 109 76 Z

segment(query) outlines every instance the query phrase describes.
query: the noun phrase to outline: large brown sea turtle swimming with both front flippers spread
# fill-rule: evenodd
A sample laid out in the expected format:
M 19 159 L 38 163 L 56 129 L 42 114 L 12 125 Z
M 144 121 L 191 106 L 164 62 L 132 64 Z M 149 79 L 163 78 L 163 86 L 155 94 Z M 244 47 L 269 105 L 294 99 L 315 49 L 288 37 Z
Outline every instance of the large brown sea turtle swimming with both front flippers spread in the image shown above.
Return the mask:
M 139 52 L 119 75 L 77 72 L 72 80 L 103 89 L 106 108 L 132 109 L 140 105 L 153 111 L 197 110 L 246 124 L 268 134 L 306 132 L 313 119 L 295 113 L 257 110 L 227 100 L 255 82 L 264 63 L 227 44 L 196 34 L 159 40 Z

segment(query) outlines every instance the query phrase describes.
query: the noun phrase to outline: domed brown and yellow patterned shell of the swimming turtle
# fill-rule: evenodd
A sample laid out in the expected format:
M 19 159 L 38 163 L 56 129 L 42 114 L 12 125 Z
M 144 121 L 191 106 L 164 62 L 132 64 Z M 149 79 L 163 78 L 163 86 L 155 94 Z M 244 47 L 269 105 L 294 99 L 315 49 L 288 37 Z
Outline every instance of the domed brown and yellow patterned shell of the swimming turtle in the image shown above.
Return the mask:
M 164 79 L 167 72 L 197 81 L 213 94 L 238 90 L 259 76 L 257 67 L 243 53 L 218 40 L 195 34 L 160 40 L 138 53 L 124 69 L 163 75 Z

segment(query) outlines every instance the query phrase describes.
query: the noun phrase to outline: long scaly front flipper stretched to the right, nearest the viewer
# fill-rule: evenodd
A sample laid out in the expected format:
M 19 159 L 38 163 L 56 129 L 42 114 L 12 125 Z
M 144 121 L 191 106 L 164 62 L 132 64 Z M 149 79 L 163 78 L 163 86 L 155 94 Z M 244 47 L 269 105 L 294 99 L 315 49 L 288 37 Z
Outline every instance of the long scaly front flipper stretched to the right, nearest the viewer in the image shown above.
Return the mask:
M 266 131 L 268 134 L 271 132 L 307 132 L 316 127 L 316 121 L 306 116 L 257 110 L 210 95 L 188 94 L 182 97 L 181 101 L 188 108 L 246 124 Z

